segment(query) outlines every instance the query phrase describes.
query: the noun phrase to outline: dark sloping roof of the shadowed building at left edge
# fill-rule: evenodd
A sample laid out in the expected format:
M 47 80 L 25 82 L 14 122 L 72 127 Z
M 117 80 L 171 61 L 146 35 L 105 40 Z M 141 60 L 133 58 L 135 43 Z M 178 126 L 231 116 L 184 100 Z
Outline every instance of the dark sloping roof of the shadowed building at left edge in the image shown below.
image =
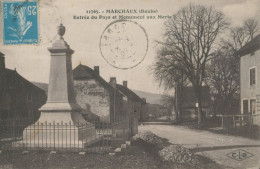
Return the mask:
M 0 71 L 0 91 L 13 91 L 20 90 L 21 87 L 28 88 L 29 90 L 44 91 L 35 86 L 25 78 L 23 78 L 16 70 L 4 69 Z

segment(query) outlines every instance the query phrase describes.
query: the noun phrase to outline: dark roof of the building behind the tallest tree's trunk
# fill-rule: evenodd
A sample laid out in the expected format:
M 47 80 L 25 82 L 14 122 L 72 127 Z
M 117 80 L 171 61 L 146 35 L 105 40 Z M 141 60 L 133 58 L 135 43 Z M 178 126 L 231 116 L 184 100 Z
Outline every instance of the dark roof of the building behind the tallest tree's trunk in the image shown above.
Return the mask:
M 193 87 L 183 87 L 182 91 L 183 97 L 183 107 L 195 107 L 197 103 L 195 90 Z M 202 86 L 201 88 L 202 96 L 202 107 L 208 107 L 211 104 L 210 90 L 208 86 Z

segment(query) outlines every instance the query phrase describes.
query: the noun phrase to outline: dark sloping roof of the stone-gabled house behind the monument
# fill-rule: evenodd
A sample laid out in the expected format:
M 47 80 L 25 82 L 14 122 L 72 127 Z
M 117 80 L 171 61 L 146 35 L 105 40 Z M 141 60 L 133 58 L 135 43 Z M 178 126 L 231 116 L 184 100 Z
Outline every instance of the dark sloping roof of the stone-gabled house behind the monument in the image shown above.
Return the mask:
M 98 73 L 86 65 L 78 65 L 73 69 L 74 80 L 85 80 L 85 79 L 96 79 L 99 81 L 106 89 L 110 91 L 117 91 L 113 86 L 107 83 Z

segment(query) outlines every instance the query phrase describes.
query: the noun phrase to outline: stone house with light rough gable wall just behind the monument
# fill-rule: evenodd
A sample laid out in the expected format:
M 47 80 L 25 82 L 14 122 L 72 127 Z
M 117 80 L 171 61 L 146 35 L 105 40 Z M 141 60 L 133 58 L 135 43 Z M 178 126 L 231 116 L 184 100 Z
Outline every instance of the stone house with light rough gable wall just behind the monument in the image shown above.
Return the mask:
M 86 120 L 111 123 L 125 118 L 123 95 L 116 89 L 115 78 L 107 83 L 100 76 L 98 66 L 93 70 L 82 64 L 73 70 L 73 78 L 76 102 Z

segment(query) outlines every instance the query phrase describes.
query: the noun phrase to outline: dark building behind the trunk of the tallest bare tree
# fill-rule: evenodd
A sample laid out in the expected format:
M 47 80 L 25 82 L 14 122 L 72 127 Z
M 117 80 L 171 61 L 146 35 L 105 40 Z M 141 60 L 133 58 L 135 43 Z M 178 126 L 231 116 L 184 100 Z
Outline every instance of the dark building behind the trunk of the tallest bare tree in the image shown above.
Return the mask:
M 193 87 L 183 87 L 182 89 L 182 118 L 195 119 L 197 118 L 197 99 Z M 201 107 L 206 116 L 211 113 L 211 96 L 208 86 L 201 87 Z

